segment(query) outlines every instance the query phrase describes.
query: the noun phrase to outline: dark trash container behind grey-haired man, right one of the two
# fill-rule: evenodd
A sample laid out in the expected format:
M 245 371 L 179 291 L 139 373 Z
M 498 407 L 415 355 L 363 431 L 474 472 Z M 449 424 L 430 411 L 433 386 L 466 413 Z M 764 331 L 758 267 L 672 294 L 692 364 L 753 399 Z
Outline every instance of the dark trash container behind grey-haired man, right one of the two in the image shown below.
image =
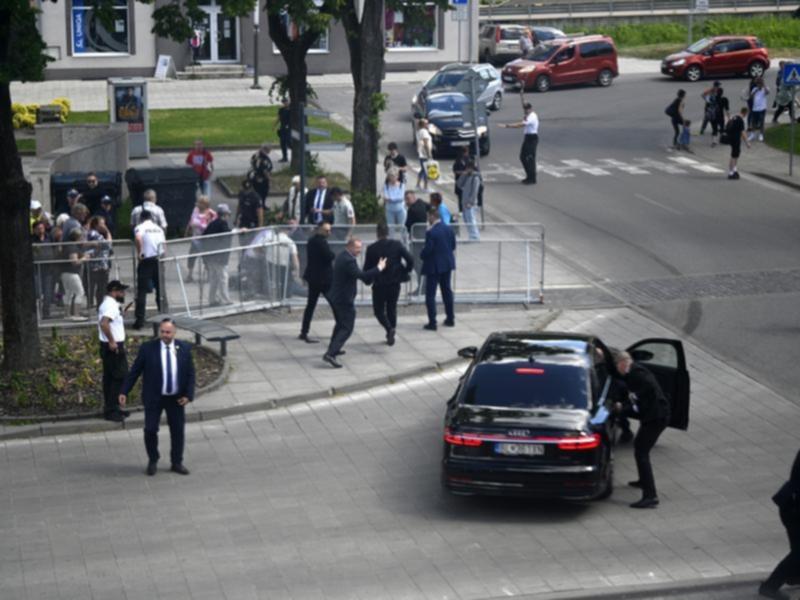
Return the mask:
M 128 169 L 125 183 L 134 206 L 142 203 L 146 190 L 155 191 L 158 205 L 167 218 L 167 233 L 182 235 L 197 198 L 197 173 L 191 167 Z

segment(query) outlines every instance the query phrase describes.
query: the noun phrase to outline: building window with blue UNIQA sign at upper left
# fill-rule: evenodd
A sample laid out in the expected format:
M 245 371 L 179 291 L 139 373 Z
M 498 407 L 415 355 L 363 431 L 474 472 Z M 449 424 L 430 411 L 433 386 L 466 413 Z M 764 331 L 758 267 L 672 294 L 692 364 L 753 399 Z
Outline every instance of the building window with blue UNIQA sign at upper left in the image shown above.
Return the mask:
M 113 0 L 109 28 L 97 17 L 92 0 L 72 0 L 72 54 L 91 56 L 130 54 L 128 0 Z

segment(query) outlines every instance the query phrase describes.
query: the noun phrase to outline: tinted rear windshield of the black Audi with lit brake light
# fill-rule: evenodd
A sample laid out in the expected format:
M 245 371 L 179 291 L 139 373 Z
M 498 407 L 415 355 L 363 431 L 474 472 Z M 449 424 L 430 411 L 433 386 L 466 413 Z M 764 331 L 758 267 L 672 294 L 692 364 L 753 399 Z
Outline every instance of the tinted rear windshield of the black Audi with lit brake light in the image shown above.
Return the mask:
M 510 408 L 587 409 L 587 370 L 582 365 L 530 361 L 481 363 L 463 402 Z

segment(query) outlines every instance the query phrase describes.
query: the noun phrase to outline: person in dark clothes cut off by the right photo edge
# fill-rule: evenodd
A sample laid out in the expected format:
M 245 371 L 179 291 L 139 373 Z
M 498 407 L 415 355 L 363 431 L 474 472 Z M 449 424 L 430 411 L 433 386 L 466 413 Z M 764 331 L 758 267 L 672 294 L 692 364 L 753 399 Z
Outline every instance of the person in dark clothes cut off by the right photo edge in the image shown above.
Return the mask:
M 781 523 L 789 536 L 789 554 L 761 584 L 758 593 L 765 598 L 789 600 L 789 595 L 780 588 L 800 583 L 800 450 L 794 458 L 789 481 L 783 484 L 772 501 L 778 505 Z

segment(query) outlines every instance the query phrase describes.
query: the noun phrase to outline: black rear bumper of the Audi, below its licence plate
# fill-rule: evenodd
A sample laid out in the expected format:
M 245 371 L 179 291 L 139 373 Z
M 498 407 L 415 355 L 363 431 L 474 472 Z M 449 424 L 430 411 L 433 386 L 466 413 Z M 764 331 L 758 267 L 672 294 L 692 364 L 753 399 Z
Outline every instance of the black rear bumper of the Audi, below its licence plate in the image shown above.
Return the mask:
M 603 492 L 605 482 L 600 465 L 521 469 L 445 459 L 442 485 L 455 493 L 588 500 Z

